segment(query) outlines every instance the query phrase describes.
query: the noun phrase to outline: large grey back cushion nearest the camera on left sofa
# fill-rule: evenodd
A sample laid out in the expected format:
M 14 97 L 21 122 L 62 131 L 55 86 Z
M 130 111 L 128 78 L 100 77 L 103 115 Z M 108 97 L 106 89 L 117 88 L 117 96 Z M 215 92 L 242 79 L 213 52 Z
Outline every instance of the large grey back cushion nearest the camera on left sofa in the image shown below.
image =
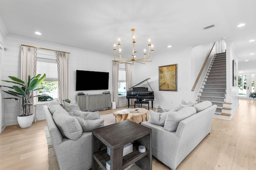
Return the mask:
M 75 117 L 67 115 L 64 112 L 66 112 L 64 109 L 54 112 L 52 118 L 55 124 L 63 137 L 67 137 L 72 140 L 79 139 L 83 133 L 80 123 Z

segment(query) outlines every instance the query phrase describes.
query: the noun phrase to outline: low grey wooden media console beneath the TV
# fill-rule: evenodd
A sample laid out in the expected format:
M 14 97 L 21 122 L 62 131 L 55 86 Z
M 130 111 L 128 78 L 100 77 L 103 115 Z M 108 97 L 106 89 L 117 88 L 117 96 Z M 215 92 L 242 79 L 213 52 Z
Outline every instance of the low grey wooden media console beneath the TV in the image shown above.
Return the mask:
M 76 103 L 82 111 L 111 109 L 111 94 L 76 95 Z

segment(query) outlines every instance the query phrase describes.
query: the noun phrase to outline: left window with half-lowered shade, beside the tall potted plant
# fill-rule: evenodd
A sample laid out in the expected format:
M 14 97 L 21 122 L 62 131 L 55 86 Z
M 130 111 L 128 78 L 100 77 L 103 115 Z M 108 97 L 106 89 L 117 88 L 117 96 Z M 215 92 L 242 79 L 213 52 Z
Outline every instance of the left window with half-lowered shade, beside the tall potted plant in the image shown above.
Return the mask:
M 38 87 L 45 86 L 38 90 L 38 94 L 47 94 L 38 97 L 38 102 L 46 102 L 58 98 L 58 69 L 56 53 L 49 51 L 39 51 L 37 55 L 36 74 L 46 74 L 46 78 Z

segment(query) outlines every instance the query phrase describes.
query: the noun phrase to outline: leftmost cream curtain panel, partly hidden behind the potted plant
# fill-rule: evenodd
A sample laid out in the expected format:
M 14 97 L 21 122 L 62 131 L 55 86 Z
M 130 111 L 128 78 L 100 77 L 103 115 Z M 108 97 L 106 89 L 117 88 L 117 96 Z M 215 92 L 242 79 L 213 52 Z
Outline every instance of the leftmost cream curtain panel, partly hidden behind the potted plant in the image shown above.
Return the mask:
M 30 75 L 31 78 L 36 76 L 36 55 L 36 48 L 21 46 L 20 79 L 23 80 L 25 83 L 28 82 L 28 75 Z M 36 92 L 33 92 L 33 96 L 36 96 Z M 32 98 L 30 102 L 31 104 L 35 105 L 36 98 Z M 29 110 L 30 113 L 34 114 L 34 122 L 36 122 L 36 108 L 34 106 L 30 106 Z

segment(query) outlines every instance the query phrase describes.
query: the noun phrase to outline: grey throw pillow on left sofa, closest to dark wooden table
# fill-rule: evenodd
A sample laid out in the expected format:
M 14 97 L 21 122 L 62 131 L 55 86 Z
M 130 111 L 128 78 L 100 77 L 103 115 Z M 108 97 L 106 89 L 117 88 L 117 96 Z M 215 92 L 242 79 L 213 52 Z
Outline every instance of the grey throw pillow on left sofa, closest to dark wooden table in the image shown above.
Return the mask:
M 99 127 L 104 127 L 104 119 L 95 119 L 95 120 L 84 120 L 82 117 L 74 116 L 80 123 L 83 132 L 92 131 Z

